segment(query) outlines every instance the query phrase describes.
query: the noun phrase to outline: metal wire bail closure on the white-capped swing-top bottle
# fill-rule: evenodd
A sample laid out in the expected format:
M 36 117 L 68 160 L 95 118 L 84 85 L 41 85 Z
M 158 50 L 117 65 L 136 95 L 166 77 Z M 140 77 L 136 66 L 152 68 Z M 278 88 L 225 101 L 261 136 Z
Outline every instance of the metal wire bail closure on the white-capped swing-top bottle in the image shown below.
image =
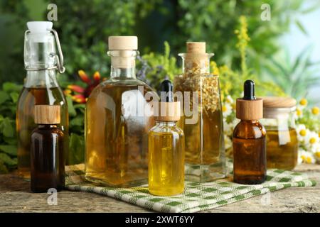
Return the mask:
M 48 31 L 52 32 L 53 35 L 55 36 L 55 43 L 58 48 L 58 55 L 55 52 L 50 52 L 50 57 L 55 57 L 57 65 L 51 66 L 51 67 L 46 67 L 46 68 L 40 68 L 40 69 L 26 68 L 26 71 L 58 70 L 59 73 L 65 72 L 65 67 L 63 66 L 63 52 L 61 49 L 58 33 L 54 29 L 48 29 Z M 26 34 L 28 34 L 28 33 L 30 33 L 30 30 L 27 30 L 26 33 L 24 33 L 24 35 L 26 36 Z

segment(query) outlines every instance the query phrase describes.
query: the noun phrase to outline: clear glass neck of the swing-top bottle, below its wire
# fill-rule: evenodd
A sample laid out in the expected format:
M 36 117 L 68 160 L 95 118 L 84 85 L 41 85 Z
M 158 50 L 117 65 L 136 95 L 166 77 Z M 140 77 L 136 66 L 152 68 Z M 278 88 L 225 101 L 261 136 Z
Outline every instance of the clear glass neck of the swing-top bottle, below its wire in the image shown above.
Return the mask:
M 56 70 L 27 71 L 24 87 L 59 87 Z

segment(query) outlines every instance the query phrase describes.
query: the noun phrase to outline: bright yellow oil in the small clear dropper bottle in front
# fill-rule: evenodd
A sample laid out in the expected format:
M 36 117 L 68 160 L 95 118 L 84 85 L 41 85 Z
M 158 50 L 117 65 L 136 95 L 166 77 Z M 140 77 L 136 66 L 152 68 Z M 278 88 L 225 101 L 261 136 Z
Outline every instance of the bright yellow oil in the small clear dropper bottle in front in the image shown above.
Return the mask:
M 172 196 L 183 190 L 183 131 L 176 126 L 155 126 L 149 133 L 149 192 Z

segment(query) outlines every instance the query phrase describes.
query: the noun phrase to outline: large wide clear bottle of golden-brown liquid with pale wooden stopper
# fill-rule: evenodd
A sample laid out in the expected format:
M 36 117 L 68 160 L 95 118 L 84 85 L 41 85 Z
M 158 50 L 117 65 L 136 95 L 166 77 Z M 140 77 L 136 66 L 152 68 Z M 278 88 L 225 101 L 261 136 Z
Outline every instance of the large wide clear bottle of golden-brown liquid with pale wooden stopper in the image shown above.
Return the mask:
M 85 177 L 111 187 L 148 180 L 148 132 L 156 92 L 136 78 L 136 36 L 110 36 L 110 79 L 87 99 Z

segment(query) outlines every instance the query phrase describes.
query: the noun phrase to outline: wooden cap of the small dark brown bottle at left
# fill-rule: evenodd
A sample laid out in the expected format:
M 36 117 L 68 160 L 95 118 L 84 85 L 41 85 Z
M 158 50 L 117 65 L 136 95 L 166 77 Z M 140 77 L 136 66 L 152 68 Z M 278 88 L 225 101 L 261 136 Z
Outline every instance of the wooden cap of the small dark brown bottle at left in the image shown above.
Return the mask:
M 34 106 L 34 122 L 36 124 L 60 123 L 60 106 L 36 105 Z

